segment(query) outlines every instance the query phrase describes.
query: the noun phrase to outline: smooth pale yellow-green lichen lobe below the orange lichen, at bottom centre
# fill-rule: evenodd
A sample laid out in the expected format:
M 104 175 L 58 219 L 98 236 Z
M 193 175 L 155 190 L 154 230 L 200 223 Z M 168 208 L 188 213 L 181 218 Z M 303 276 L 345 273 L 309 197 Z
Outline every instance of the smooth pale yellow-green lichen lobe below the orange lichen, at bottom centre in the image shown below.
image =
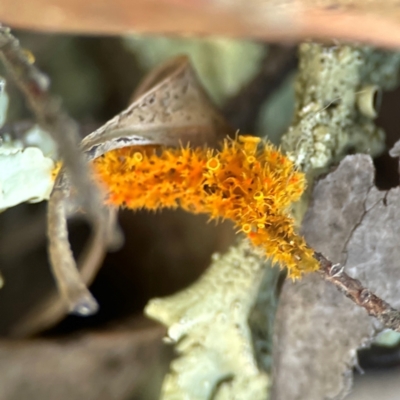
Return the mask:
M 145 312 L 168 327 L 179 357 L 163 384 L 164 400 L 264 400 L 268 375 L 254 356 L 248 318 L 265 271 L 247 241 L 213 256 L 207 272 Z

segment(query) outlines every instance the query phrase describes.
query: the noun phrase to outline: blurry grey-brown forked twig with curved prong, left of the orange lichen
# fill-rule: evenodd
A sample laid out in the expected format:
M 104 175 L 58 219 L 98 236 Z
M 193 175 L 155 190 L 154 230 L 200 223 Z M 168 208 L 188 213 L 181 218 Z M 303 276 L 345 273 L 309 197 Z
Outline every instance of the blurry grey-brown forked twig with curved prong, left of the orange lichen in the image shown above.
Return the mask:
M 93 227 L 93 246 L 82 266 L 83 275 L 93 270 L 93 263 L 101 260 L 107 247 L 120 239 L 116 225 L 111 224 L 110 210 L 96 184 L 90 179 L 87 162 L 79 151 L 78 126 L 63 110 L 61 101 L 49 93 L 49 80 L 32 63 L 10 29 L 0 25 L 0 58 L 19 89 L 24 93 L 38 123 L 48 131 L 58 145 L 63 160 L 63 171 L 56 180 L 48 207 L 49 253 L 57 286 L 71 312 L 80 315 L 93 314 L 97 303 L 90 294 L 72 255 L 68 240 L 67 201 L 84 211 L 84 216 Z M 64 169 L 63 168 L 63 169 Z M 67 179 L 68 178 L 68 179 Z M 71 196 L 71 188 L 76 196 Z

